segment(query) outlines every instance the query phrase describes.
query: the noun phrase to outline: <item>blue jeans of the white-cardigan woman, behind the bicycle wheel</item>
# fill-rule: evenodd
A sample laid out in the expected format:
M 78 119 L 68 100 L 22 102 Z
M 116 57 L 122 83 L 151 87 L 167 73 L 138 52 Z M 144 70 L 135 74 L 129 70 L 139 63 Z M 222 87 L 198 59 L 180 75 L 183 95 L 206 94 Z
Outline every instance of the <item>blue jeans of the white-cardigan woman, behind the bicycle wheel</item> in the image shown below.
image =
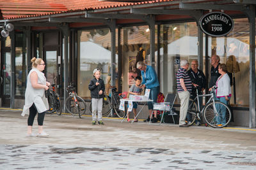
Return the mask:
M 219 100 L 221 103 L 224 103 L 224 104 L 228 104 L 228 101 L 226 101 L 225 97 L 216 97 L 217 100 Z M 230 99 L 230 97 L 228 97 L 228 99 Z M 222 125 L 225 125 L 226 124 L 226 108 L 225 106 L 220 106 L 220 104 L 215 104 L 216 106 L 216 110 L 218 111 L 219 113 L 219 116 L 216 117 L 216 122 L 217 124 L 222 124 Z

